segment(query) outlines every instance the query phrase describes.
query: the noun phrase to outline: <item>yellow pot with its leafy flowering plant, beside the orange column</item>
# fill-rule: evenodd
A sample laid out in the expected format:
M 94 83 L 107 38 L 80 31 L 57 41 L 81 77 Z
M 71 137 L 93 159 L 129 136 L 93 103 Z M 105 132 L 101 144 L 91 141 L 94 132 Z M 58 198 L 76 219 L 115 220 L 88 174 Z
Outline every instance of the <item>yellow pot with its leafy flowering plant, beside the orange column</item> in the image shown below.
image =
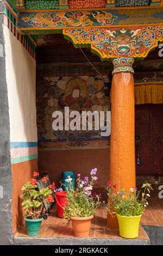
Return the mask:
M 139 235 L 141 216 L 148 205 L 147 199 L 153 189 L 147 182 L 142 185 L 140 191 L 137 191 L 136 187 L 131 187 L 130 192 L 124 189 L 116 192 L 116 188 L 116 185 L 108 181 L 106 191 L 109 198 L 106 210 L 112 217 L 117 216 L 120 236 L 127 239 L 136 238 Z

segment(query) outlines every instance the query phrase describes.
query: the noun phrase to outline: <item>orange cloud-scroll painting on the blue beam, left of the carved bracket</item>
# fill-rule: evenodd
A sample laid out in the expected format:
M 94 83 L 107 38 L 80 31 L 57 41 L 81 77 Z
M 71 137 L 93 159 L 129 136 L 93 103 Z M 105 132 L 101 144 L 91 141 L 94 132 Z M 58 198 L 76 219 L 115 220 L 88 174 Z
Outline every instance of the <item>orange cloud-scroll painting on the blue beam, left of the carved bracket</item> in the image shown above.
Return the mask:
M 101 13 L 98 11 L 92 11 L 92 13 L 88 11 L 60 11 L 59 13 L 52 11 L 48 13 L 30 13 L 28 16 L 20 13 L 18 26 L 22 26 L 22 24 L 34 28 L 85 27 L 94 24 L 100 26 L 112 25 L 117 18 L 117 16 L 112 16 L 112 14 L 106 11 L 102 11 Z

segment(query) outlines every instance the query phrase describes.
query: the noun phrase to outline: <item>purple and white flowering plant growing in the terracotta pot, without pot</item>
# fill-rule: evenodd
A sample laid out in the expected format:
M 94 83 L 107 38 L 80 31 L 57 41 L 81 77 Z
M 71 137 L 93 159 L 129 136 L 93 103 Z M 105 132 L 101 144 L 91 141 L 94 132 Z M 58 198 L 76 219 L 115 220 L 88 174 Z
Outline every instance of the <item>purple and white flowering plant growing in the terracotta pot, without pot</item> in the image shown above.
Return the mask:
M 67 177 L 69 182 L 69 191 L 67 191 L 67 204 L 64 208 L 64 217 L 70 220 L 70 217 L 89 217 L 95 214 L 99 204 L 101 194 L 92 193 L 93 185 L 98 178 L 96 176 L 97 168 L 91 170 L 91 179 L 85 176 L 84 179 L 78 174 L 77 187 L 74 190 L 71 177 Z

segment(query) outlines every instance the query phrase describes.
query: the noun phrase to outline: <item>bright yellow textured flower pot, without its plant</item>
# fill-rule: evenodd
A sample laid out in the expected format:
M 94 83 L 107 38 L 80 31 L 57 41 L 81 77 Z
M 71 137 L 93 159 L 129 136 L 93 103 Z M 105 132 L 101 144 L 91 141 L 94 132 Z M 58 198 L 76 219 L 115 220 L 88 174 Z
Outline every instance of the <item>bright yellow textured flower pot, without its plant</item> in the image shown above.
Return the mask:
M 121 216 L 117 214 L 120 236 L 128 239 L 136 238 L 139 235 L 139 223 L 141 216 Z

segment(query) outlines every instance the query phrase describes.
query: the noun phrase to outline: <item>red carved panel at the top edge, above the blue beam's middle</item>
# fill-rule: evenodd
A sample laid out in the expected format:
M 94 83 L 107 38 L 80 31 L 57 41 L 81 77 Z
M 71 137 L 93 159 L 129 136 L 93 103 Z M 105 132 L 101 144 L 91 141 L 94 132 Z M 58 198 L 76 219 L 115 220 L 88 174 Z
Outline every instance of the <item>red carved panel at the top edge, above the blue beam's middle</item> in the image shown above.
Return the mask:
M 105 7 L 105 0 L 69 0 L 68 5 L 70 9 L 103 8 Z

